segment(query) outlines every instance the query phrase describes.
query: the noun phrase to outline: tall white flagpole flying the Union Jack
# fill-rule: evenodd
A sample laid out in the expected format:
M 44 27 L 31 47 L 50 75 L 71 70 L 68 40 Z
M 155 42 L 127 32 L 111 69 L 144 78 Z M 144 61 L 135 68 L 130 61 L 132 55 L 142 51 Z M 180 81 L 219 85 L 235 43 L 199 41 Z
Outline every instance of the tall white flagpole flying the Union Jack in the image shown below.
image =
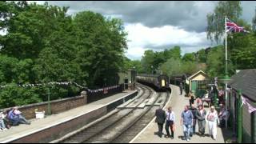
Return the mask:
M 226 75 L 226 78 L 228 76 L 228 70 L 227 70 L 227 36 L 226 36 L 226 16 L 225 16 L 225 47 L 226 47 L 226 70 L 225 70 L 225 75 Z M 226 84 L 226 90 L 225 90 L 225 110 L 227 109 L 227 82 L 225 83 Z M 225 122 L 225 126 L 227 128 L 227 110 L 226 110 L 226 122 Z

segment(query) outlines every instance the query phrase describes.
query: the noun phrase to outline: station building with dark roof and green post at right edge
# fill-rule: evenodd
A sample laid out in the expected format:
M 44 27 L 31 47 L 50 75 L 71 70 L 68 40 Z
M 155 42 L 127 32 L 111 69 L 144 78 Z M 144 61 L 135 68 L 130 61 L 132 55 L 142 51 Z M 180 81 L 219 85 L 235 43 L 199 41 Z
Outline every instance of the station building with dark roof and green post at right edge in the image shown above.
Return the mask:
M 234 138 L 256 143 L 256 69 L 238 70 L 228 86 L 229 125 Z

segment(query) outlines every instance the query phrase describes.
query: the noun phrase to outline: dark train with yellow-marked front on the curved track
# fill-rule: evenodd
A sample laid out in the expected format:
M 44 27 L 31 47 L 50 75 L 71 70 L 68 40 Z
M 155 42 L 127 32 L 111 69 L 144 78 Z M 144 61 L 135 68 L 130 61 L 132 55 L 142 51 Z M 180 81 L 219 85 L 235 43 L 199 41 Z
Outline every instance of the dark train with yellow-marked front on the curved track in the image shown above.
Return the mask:
M 156 91 L 170 91 L 169 77 L 164 74 L 137 74 L 136 81 Z

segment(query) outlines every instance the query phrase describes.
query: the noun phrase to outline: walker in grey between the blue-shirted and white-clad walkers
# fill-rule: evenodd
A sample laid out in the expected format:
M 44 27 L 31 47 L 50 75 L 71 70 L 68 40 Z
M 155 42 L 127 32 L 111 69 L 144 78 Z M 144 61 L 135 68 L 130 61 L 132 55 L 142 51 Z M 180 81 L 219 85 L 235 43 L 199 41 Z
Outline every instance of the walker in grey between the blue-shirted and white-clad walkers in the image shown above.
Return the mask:
M 196 117 L 198 118 L 198 131 L 200 136 L 205 136 L 206 130 L 206 110 L 202 105 L 198 106 Z

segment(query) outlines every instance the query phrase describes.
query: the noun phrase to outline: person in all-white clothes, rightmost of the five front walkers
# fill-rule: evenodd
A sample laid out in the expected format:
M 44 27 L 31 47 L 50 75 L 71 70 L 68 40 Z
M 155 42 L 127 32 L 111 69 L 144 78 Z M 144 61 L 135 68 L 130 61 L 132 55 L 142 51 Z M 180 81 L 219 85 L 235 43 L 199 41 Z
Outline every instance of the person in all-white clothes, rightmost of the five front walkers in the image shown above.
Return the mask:
M 214 106 L 210 106 L 209 112 L 206 114 L 206 120 L 209 126 L 209 134 L 211 138 L 216 140 L 217 138 L 217 126 L 219 124 L 218 112 Z

